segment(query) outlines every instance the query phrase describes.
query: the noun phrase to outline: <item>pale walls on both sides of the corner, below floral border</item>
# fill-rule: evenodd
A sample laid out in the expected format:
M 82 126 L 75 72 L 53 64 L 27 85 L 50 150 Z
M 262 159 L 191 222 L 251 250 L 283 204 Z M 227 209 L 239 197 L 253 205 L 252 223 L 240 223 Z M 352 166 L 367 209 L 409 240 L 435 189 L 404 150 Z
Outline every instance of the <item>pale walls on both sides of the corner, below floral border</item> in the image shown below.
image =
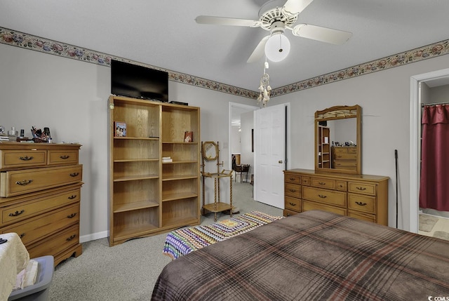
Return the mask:
M 161 66 L 163 67 L 163 66 Z M 275 67 L 275 66 L 273 66 Z M 270 100 L 290 102 L 291 168 L 314 169 L 314 112 L 334 105 L 362 107 L 362 171 L 387 175 L 389 225 L 396 225 L 394 149 L 398 149 L 399 227 L 409 229 L 410 76 L 449 67 L 443 55 Z M 107 98 L 109 68 L 0 44 L 0 124 L 17 130 L 51 128 L 56 141 L 83 147 L 81 239 L 107 235 Z M 229 102 L 255 100 L 170 81 L 170 100 L 201 107 L 201 140 L 229 141 Z M 417 210 L 417 208 L 412 208 Z

